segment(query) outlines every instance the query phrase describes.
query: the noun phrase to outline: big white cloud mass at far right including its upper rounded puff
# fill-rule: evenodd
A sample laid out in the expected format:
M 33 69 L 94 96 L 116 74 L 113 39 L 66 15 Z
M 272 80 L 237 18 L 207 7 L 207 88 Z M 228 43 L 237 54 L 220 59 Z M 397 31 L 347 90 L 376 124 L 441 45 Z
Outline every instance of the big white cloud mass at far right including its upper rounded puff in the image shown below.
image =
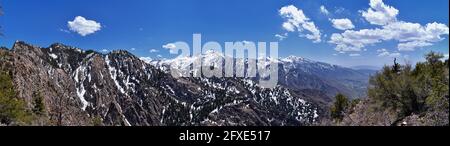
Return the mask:
M 369 10 L 363 12 L 363 17 L 377 28 L 346 30 L 343 33 L 333 33 L 329 43 L 335 44 L 339 52 L 361 51 L 368 45 L 384 41 L 397 42 L 399 51 L 414 51 L 442 41 L 449 35 L 449 28 L 442 23 L 419 23 L 397 20 L 399 13 L 394 7 L 388 6 L 381 0 L 371 0 Z M 369 14 L 370 17 L 369 17 Z M 373 15 L 372 15 L 373 14 Z M 379 17 L 379 18 L 375 18 Z

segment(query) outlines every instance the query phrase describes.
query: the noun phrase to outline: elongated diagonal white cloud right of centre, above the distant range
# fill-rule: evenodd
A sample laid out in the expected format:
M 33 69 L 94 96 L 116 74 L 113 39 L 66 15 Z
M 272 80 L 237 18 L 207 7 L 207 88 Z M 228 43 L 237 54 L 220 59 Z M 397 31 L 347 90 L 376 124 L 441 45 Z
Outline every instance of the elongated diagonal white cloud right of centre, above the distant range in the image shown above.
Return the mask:
M 293 5 L 282 7 L 279 10 L 279 14 L 284 18 L 283 28 L 288 32 L 297 31 L 300 36 L 304 36 L 313 42 L 321 42 L 321 33 L 308 17 L 305 16 L 303 10 L 298 9 Z M 309 33 L 303 34 L 304 31 Z

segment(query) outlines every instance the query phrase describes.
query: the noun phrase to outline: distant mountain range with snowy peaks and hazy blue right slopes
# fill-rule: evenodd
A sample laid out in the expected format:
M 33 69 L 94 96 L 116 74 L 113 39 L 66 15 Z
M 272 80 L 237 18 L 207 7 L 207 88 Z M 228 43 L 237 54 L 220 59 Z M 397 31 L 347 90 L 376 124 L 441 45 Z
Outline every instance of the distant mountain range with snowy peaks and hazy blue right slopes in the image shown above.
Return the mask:
M 188 69 L 192 68 L 192 64 L 196 61 L 204 62 L 204 65 L 219 64 L 222 68 L 225 68 L 225 60 L 233 58 L 220 52 L 205 51 L 202 55 L 177 57 L 175 59 L 151 59 L 149 57 L 141 57 L 140 59 L 165 72 L 170 72 L 170 67 L 184 71 L 199 72 Z M 324 92 L 328 97 L 334 97 L 336 94 L 342 93 L 354 99 L 364 98 L 369 76 L 376 72 L 375 69 L 351 69 L 297 56 L 276 59 L 270 57 L 258 59 L 234 58 L 233 61 L 235 62 L 236 70 L 246 71 L 249 69 L 250 61 L 256 62 L 258 69 L 266 67 L 271 62 L 277 63 L 278 84 L 280 86 L 293 90 Z M 257 81 L 258 77 L 261 76 L 259 74 L 260 72 L 257 72 L 257 78 L 253 78 L 253 80 Z

